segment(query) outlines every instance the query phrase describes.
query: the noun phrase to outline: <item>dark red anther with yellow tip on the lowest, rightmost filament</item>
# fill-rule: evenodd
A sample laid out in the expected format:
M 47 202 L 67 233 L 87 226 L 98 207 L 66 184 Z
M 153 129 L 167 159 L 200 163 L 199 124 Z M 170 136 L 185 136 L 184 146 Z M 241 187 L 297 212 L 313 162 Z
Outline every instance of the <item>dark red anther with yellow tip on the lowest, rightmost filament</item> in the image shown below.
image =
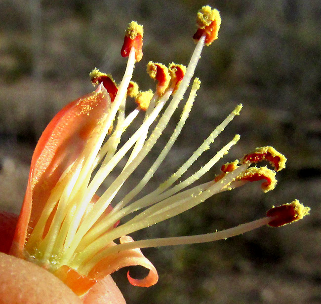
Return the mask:
M 297 199 L 291 203 L 273 207 L 267 212 L 267 216 L 272 218 L 269 222 L 271 227 L 281 227 L 289 223 L 301 220 L 304 216 L 310 214 L 310 208 L 303 206 Z

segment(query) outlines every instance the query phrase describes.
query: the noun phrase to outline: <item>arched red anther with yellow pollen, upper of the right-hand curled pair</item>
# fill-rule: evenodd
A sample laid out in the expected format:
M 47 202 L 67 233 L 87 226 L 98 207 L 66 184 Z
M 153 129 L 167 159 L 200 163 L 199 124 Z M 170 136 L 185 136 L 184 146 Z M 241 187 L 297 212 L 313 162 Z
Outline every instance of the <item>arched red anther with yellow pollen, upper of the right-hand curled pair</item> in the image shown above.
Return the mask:
M 286 157 L 273 147 L 256 148 L 254 152 L 243 156 L 242 163 L 257 163 L 266 160 L 271 163 L 276 171 L 285 168 Z

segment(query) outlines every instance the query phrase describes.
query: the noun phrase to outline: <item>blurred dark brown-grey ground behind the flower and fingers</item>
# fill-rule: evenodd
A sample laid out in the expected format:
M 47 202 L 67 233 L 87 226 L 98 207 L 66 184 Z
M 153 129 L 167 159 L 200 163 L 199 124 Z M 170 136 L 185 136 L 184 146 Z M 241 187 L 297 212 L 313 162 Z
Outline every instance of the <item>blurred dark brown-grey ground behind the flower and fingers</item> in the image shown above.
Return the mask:
M 285 154 L 287 168 L 278 174 L 274 191 L 264 194 L 259 185 L 246 185 L 216 195 L 134 238 L 230 228 L 294 198 L 310 206 L 311 215 L 284 228 L 265 227 L 216 243 L 143 250 L 160 275 L 151 288 L 131 286 L 128 269 L 113 277 L 128 304 L 321 303 L 318 0 L 0 0 L 0 209 L 19 212 L 37 140 L 59 109 L 92 91 L 88 73 L 97 67 L 121 80 L 126 60 L 120 48 L 128 22 L 138 21 L 145 31 L 144 57 L 134 80 L 142 89 L 154 88 L 147 62 L 187 64 L 196 12 L 205 4 L 220 10 L 219 39 L 202 53 L 194 109 L 147 191 L 178 168 L 238 103 L 244 106 L 241 115 L 197 165 L 234 134 L 241 134 L 241 141 L 203 181 L 213 178 L 221 164 L 265 145 Z M 158 151 L 151 152 L 132 183 Z M 130 187 L 124 185 L 123 191 Z M 144 274 L 130 271 L 135 277 Z

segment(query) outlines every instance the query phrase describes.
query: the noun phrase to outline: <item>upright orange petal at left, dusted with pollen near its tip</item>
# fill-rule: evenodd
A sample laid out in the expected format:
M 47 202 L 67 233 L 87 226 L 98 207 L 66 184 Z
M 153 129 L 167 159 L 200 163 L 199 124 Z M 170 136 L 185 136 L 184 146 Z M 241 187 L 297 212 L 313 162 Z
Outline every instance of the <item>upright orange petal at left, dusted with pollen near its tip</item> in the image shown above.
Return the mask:
M 102 85 L 63 108 L 43 131 L 31 160 L 28 186 L 11 254 L 22 257 L 29 228 L 35 227 L 51 190 L 81 153 L 91 131 L 108 111 L 110 99 Z

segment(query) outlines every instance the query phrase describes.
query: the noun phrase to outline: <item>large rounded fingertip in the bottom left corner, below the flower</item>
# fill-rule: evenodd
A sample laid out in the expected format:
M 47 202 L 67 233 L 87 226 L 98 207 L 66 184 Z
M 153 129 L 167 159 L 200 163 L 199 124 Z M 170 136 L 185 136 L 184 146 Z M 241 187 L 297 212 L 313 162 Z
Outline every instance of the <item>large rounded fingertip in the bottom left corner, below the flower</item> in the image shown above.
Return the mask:
M 0 253 L 0 304 L 80 304 L 71 289 L 47 270 Z

